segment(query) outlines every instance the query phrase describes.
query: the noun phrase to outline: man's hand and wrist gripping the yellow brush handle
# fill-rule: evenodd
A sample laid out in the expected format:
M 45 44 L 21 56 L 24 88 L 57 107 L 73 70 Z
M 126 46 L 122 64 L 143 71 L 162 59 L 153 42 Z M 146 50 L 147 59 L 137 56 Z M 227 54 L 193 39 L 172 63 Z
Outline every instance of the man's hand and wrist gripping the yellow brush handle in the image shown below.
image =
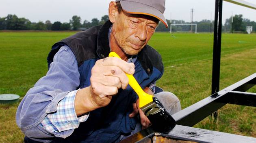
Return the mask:
M 116 57 L 107 57 L 96 61 L 91 69 L 91 86 L 83 88 L 82 91 L 79 90 L 76 95 L 81 97 L 76 97 L 77 103 L 83 102 L 80 103 L 84 109 L 82 112 L 87 113 L 108 105 L 119 88 L 126 89 L 129 79 L 125 73 L 134 74 L 134 72 L 135 65 L 133 63 L 127 63 Z M 77 109 L 81 110 L 82 108 L 76 107 L 76 99 L 76 114 L 79 116 L 81 113 Z

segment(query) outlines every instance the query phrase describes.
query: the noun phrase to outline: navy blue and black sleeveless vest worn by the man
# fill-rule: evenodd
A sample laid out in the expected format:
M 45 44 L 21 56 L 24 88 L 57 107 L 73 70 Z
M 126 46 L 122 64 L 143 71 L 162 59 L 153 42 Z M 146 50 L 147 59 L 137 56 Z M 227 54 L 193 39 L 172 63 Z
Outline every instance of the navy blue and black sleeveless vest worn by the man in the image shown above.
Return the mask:
M 48 55 L 48 65 L 61 46 L 71 48 L 78 61 L 80 73 L 80 85 L 85 88 L 91 85 L 91 68 L 98 59 L 108 57 L 110 53 L 108 43 L 108 29 L 111 22 L 92 27 L 84 32 L 70 36 L 52 46 Z M 152 47 L 146 45 L 135 61 L 135 78 L 142 88 L 155 83 L 163 74 L 161 56 Z M 90 112 L 87 121 L 80 123 L 73 134 L 67 137 L 67 141 L 81 143 L 111 143 L 119 141 L 120 135 L 128 135 L 135 128 L 137 118 L 129 118 L 133 110 L 132 104 L 137 100 L 136 93 L 130 86 L 126 90 L 119 89 L 106 107 Z

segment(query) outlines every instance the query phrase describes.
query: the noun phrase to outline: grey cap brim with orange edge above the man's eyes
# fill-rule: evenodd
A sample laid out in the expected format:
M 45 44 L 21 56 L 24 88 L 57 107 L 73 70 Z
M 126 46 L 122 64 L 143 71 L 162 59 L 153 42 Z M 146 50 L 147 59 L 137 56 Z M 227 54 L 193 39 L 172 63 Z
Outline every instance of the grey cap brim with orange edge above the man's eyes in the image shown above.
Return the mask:
M 161 11 L 159 11 L 158 9 L 156 9 L 152 6 L 138 3 L 138 2 L 130 2 L 130 1 L 128 2 L 128 1 L 124 1 L 124 0 L 121 0 L 120 2 L 121 2 L 121 6 L 122 6 L 123 10 L 126 13 L 149 15 L 149 16 L 159 19 L 160 21 L 162 21 L 165 24 L 165 27 L 168 27 L 167 21 L 163 15 L 163 13 L 161 13 Z

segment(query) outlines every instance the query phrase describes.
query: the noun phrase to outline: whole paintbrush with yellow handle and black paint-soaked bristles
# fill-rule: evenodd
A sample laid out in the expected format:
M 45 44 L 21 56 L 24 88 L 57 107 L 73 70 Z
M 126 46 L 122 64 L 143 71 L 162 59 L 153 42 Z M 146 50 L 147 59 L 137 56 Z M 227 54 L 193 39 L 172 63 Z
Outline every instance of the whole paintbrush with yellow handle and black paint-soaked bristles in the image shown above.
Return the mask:
M 115 52 L 109 53 L 109 57 L 121 59 Z M 129 78 L 129 85 L 137 93 L 139 107 L 150 120 L 152 128 L 157 132 L 168 132 L 171 130 L 175 126 L 175 120 L 165 110 L 163 104 L 153 95 L 145 93 L 134 76 L 130 74 L 126 74 L 126 76 Z

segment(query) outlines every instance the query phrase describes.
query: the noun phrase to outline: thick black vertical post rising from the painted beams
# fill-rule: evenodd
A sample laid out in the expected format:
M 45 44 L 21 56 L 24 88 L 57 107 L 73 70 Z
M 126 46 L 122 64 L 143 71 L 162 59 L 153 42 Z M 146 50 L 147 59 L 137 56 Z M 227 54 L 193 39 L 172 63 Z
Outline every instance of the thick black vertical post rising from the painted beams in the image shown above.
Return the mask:
M 220 60 L 221 60 L 222 3 L 223 3 L 223 0 L 215 0 L 212 94 L 217 93 L 219 91 L 219 75 L 220 75 Z M 218 112 L 217 111 L 214 112 L 213 116 L 217 118 Z

